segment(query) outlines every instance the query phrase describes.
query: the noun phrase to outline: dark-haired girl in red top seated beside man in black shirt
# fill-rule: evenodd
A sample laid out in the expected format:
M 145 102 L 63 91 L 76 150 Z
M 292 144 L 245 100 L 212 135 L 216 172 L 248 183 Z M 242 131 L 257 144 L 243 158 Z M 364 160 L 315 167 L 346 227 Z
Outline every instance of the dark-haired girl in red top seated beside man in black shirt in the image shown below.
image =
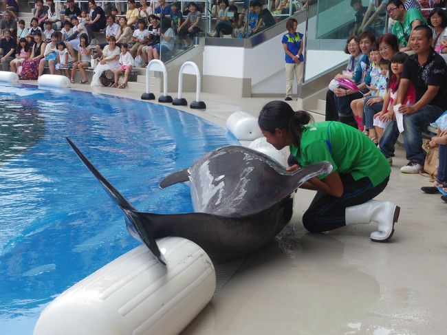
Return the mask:
M 375 132 L 378 135 L 379 141 L 382 138 L 383 130 L 391 120 L 395 119 L 395 99 L 397 96 L 397 89 L 399 89 L 400 76 L 404 70 L 404 62 L 408 55 L 405 52 L 397 52 L 391 58 L 391 74 L 386 85 L 386 95 L 384 96 L 384 104 L 382 111 L 374 116 L 373 125 Z M 403 105 L 413 105 L 416 102 L 416 92 L 413 84 L 408 84 L 406 96 L 402 99 Z

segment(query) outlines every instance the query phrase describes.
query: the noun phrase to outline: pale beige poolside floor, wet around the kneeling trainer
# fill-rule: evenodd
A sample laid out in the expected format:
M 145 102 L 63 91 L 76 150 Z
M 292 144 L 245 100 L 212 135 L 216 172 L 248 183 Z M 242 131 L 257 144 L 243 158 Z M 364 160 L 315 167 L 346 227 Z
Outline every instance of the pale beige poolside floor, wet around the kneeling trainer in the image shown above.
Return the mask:
M 194 95 L 185 97 L 190 102 Z M 184 110 L 222 127 L 232 112 L 257 115 L 270 100 L 202 98 L 206 111 Z M 419 191 L 428 178 L 400 173 L 404 150 L 396 155 L 389 186 L 378 197 L 402 208 L 389 243 L 369 240 L 374 224 L 306 233 L 301 215 L 314 193 L 299 190 L 281 241 L 248 257 L 183 334 L 446 334 L 447 204 Z

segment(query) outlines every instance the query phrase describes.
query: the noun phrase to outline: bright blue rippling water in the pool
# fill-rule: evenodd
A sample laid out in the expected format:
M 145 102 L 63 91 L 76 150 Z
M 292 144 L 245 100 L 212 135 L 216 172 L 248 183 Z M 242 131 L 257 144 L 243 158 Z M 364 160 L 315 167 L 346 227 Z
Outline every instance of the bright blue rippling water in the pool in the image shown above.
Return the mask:
M 138 246 L 69 136 L 135 208 L 192 210 L 169 173 L 237 140 L 170 107 L 0 86 L 0 334 L 26 335 L 54 297 Z

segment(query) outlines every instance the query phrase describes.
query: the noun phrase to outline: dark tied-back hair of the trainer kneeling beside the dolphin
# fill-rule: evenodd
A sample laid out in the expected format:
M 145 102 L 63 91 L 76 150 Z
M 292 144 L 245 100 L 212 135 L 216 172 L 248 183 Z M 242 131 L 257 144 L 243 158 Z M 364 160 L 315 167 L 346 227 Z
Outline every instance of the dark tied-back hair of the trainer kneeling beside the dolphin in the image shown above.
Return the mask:
M 275 100 L 268 102 L 259 114 L 259 128 L 274 133 L 275 129 L 285 129 L 292 137 L 292 143 L 300 150 L 304 126 L 314 122 L 307 111 L 294 111 L 287 102 Z

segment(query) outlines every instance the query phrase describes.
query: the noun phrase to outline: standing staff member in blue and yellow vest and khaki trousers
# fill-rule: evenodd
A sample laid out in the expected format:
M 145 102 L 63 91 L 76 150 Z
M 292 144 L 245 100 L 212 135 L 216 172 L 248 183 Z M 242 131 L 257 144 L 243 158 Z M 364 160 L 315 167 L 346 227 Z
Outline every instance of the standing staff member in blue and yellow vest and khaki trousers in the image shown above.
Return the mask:
M 285 23 L 288 32 L 283 36 L 283 48 L 285 52 L 285 100 L 292 100 L 292 87 L 294 78 L 296 83 L 303 82 L 304 56 L 303 34 L 296 31 L 298 22 L 288 19 Z

